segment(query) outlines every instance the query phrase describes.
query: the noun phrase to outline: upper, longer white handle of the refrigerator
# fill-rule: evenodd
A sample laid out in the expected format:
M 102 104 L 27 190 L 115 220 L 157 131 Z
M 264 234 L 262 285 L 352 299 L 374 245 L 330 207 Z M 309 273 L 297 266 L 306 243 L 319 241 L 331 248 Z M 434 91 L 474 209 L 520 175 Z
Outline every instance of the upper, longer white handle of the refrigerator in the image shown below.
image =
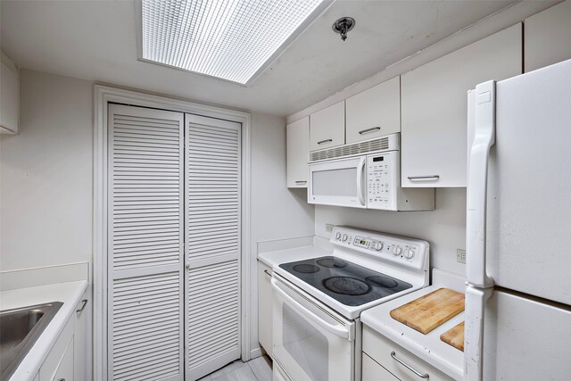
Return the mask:
M 488 160 L 495 144 L 495 81 L 476 86 L 474 142 L 468 169 L 467 274 L 468 283 L 493 286 L 486 269 L 485 233 Z

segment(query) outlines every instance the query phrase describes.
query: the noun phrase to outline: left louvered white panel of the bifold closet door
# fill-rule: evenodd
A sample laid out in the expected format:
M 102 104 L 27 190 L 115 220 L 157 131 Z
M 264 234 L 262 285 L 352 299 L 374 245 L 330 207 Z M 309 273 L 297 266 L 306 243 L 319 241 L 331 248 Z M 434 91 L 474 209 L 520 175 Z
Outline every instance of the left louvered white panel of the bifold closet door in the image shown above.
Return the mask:
M 183 379 L 183 120 L 109 106 L 110 380 Z

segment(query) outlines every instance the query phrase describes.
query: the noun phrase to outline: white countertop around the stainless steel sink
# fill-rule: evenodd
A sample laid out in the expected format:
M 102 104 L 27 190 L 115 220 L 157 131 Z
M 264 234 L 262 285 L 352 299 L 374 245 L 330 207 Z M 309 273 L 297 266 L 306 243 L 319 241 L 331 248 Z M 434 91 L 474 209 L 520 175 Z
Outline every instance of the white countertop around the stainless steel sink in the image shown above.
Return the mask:
M 63 305 L 50 321 L 42 335 L 12 374 L 11 380 L 31 380 L 46 360 L 63 327 L 70 319 L 87 289 L 87 281 L 58 283 L 47 286 L 19 288 L 0 292 L 0 310 L 12 310 L 46 302 L 62 302 Z

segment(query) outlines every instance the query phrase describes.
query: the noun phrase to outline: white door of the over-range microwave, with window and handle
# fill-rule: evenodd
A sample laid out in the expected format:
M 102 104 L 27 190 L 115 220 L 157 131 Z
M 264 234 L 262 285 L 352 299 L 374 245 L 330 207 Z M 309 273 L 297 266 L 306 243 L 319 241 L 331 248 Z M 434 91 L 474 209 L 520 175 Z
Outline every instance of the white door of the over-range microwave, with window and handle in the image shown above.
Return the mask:
M 309 165 L 308 203 L 366 208 L 366 156 Z

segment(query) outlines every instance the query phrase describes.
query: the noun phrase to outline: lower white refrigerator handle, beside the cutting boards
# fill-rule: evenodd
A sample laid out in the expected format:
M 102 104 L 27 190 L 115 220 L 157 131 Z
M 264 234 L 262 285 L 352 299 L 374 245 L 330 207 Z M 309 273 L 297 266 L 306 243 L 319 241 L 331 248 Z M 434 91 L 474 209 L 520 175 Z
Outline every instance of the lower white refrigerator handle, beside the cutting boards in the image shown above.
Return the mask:
M 483 381 L 484 309 L 493 288 L 466 287 L 466 323 L 464 326 L 464 377 L 466 381 Z

